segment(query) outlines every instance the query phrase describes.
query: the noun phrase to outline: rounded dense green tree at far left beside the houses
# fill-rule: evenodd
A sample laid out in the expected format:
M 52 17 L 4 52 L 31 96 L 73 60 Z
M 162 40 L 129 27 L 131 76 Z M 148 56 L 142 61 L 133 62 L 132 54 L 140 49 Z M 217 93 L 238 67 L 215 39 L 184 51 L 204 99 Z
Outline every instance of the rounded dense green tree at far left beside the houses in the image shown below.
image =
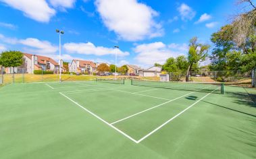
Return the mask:
M 1 53 L 0 65 L 3 67 L 18 67 L 23 63 L 23 54 L 20 51 L 5 51 Z M 13 72 L 14 73 L 14 72 Z

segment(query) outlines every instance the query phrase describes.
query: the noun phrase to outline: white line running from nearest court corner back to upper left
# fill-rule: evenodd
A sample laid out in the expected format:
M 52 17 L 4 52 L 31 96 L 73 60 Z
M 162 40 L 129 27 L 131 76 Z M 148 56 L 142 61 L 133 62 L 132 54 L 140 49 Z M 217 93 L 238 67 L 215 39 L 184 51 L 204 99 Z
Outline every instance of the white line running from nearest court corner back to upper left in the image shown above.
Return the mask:
M 59 92 L 59 94 L 61 94 L 61 92 Z M 121 131 L 120 129 L 114 127 L 113 125 L 110 125 L 109 123 L 107 123 L 107 121 L 105 121 L 104 119 L 101 119 L 101 117 L 95 115 L 94 113 L 92 113 L 90 110 L 84 108 L 83 106 L 81 106 L 80 104 L 78 104 L 78 102 L 75 102 L 74 100 L 72 100 L 71 98 L 69 98 L 68 96 L 61 94 L 62 96 L 68 98 L 68 100 L 74 102 L 74 104 L 76 104 L 77 106 L 79 106 L 80 108 L 86 110 L 86 112 L 90 113 L 91 115 L 93 115 L 94 117 L 97 117 L 97 119 L 103 121 L 103 123 L 109 125 L 109 127 L 112 127 L 113 129 L 115 129 L 116 131 L 118 131 L 119 133 L 122 133 L 122 135 L 124 135 L 125 137 L 128 137 L 128 139 L 134 141 L 136 144 L 138 144 L 138 141 L 136 141 L 135 139 L 133 139 L 132 137 L 130 137 L 129 135 L 127 135 L 126 133 L 124 133 L 123 131 Z

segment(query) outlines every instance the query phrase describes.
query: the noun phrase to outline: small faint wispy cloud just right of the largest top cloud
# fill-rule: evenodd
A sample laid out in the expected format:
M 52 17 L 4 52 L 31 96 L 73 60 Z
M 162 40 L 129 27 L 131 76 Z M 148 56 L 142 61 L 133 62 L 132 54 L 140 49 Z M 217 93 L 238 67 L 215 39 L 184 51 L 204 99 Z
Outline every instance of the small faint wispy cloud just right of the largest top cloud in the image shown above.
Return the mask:
M 185 3 L 182 3 L 180 7 L 178 7 L 178 11 L 183 21 L 192 20 L 196 15 L 196 12 Z

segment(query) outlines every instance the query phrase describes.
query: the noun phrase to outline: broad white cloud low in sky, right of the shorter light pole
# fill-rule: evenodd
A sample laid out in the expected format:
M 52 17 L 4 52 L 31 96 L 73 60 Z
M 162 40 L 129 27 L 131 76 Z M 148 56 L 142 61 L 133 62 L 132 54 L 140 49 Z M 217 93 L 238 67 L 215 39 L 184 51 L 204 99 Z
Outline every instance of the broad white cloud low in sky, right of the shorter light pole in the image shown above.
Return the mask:
M 186 44 L 172 43 L 167 46 L 163 42 L 140 44 L 134 48 L 134 52 L 138 53 L 135 60 L 138 61 L 138 65 L 144 65 L 145 67 L 151 66 L 154 63 L 163 64 L 170 57 L 185 55 L 186 51 Z

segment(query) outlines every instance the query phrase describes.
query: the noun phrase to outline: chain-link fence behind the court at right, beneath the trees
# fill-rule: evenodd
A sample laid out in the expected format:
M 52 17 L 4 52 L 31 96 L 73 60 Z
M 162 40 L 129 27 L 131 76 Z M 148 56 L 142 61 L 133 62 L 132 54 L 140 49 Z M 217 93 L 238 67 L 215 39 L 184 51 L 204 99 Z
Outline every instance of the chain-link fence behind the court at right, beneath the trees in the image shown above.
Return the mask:
M 185 82 L 187 72 L 170 72 L 170 80 Z M 252 82 L 252 71 L 190 71 L 190 82 L 225 82 L 230 84 L 249 84 Z

